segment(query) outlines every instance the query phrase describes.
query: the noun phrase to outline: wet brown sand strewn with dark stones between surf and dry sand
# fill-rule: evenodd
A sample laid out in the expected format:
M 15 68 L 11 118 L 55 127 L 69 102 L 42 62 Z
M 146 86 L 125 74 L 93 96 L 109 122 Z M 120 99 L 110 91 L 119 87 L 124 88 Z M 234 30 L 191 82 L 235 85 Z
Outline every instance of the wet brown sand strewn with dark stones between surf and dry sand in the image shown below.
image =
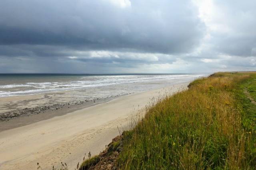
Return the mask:
M 88 99 L 76 98 L 74 93 L 77 93 L 77 90 L 0 98 L 0 131 L 29 125 L 128 95 L 124 93 Z

